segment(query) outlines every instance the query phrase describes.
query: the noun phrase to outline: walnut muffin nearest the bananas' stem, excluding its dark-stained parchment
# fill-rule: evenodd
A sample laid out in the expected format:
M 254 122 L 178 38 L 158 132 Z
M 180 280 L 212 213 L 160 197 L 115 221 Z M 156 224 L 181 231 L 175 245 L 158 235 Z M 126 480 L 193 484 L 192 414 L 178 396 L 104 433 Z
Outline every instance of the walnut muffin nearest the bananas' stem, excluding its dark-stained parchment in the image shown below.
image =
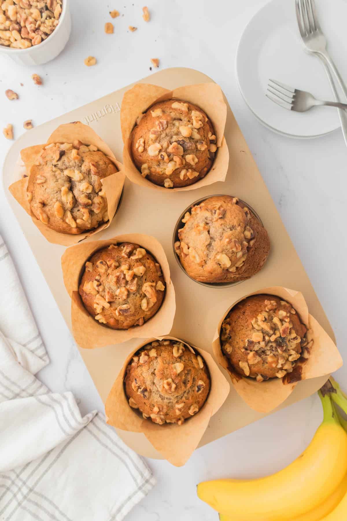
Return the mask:
M 306 326 L 288 302 L 274 295 L 252 295 L 236 304 L 221 330 L 222 351 L 242 376 L 262 382 L 292 373 L 313 344 Z

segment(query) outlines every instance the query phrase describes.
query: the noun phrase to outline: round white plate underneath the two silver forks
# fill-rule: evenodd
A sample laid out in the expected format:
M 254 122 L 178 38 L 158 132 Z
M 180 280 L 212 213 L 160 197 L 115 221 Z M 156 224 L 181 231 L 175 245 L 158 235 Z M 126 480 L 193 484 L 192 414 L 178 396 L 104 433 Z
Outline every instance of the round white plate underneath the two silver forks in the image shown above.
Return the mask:
M 316 0 L 316 8 L 328 52 L 347 82 L 347 3 Z M 247 105 L 272 130 L 291 137 L 315 138 L 340 127 L 335 108 L 314 107 L 298 113 L 277 106 L 265 96 L 268 79 L 273 78 L 321 100 L 333 100 L 323 65 L 304 51 L 294 0 L 272 0 L 254 15 L 238 45 L 236 76 Z

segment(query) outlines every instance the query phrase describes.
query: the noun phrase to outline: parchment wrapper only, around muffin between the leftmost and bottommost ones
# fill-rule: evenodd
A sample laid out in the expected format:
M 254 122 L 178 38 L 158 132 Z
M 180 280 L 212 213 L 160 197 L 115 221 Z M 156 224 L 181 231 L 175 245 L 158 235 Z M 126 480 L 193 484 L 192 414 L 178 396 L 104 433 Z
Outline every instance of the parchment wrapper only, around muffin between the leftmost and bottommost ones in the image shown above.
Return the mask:
M 89 315 L 79 294 L 81 272 L 87 259 L 94 252 L 110 244 L 132 242 L 144 247 L 161 266 L 165 281 L 164 300 L 143 326 L 130 329 L 112 329 L 100 324 Z M 117 235 L 105 241 L 88 241 L 68 248 L 61 257 L 63 280 L 71 297 L 71 322 L 75 341 L 84 349 L 101 348 L 105 345 L 120 344 L 132 338 L 146 338 L 170 333 L 176 311 L 175 290 L 170 279 L 168 259 L 160 242 L 155 237 L 140 233 Z

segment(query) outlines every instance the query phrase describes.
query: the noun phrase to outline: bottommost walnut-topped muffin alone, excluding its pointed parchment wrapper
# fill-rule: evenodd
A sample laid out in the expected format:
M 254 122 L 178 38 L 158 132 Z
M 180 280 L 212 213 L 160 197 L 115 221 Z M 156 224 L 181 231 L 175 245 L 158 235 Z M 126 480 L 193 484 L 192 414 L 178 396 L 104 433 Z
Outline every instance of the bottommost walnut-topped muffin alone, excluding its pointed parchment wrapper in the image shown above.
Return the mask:
M 154 423 L 176 423 L 197 414 L 210 390 L 206 363 L 175 340 L 155 341 L 133 356 L 126 368 L 129 405 Z

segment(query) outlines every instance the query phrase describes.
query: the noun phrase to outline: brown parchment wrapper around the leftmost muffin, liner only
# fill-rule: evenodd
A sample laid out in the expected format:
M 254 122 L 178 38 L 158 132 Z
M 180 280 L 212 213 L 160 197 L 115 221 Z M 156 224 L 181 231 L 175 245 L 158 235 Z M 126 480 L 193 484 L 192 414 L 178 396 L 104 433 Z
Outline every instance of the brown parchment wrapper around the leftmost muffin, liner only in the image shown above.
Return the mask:
M 98 150 L 104 152 L 104 154 L 109 159 L 111 159 L 112 163 L 114 163 L 114 165 L 117 167 L 118 172 L 113 173 L 111 176 L 108 176 L 105 179 L 101 179 L 101 184 L 105 188 L 106 192 L 109 220 L 94 230 L 89 230 L 77 235 L 70 235 L 68 233 L 60 233 L 48 228 L 43 224 L 43 222 L 35 217 L 31 211 L 30 204 L 27 199 L 27 188 L 30 176 L 34 175 L 34 172 L 32 172 L 32 167 L 34 166 L 37 156 L 40 154 L 42 149 L 50 143 L 72 143 L 75 139 L 79 139 L 82 141 L 82 143 L 88 143 L 89 145 L 97 146 Z M 23 150 L 20 152 L 20 155 L 29 177 L 16 181 L 15 183 L 11 184 L 8 189 L 15 197 L 16 201 L 22 206 L 22 208 L 24 208 L 25 212 L 30 215 L 34 225 L 41 231 L 48 242 L 52 242 L 53 244 L 61 244 L 62 246 L 71 246 L 72 244 L 77 244 L 87 237 L 91 237 L 91 235 L 94 235 L 101 230 L 105 230 L 105 228 L 110 226 L 114 214 L 117 210 L 123 190 L 125 180 L 124 167 L 122 163 L 120 163 L 114 157 L 109 146 L 104 141 L 102 141 L 101 138 L 99 138 L 93 129 L 87 125 L 83 125 L 81 121 L 74 121 L 73 123 L 60 125 L 53 132 L 53 134 L 49 136 L 47 143 L 23 148 Z

